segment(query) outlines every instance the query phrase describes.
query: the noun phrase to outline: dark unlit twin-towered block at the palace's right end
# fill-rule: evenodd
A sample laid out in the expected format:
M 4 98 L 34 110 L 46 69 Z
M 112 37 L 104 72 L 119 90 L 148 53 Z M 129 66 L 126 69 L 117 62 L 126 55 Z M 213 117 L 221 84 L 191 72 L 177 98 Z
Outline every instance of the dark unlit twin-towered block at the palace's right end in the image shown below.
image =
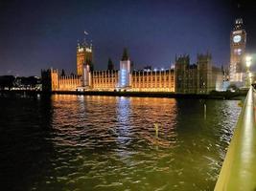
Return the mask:
M 209 53 L 198 54 L 197 64 L 190 64 L 189 55 L 175 58 L 175 92 L 179 94 L 208 94 L 221 91 L 221 69 L 212 65 Z

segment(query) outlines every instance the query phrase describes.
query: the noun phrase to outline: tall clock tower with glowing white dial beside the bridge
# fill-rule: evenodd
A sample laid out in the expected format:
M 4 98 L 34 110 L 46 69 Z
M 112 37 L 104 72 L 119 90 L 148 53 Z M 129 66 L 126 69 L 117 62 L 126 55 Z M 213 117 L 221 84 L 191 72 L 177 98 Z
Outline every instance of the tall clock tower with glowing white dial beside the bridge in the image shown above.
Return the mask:
M 230 35 L 230 82 L 244 81 L 244 53 L 246 45 L 246 32 L 243 19 L 236 19 L 235 26 Z

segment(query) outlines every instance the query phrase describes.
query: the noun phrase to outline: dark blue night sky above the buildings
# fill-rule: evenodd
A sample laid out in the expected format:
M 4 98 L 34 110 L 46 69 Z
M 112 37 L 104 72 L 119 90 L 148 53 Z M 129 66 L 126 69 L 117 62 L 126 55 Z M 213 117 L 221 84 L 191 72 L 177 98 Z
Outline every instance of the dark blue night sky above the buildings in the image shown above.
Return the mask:
M 234 19 L 244 17 L 247 50 L 256 53 L 253 1 L 232 0 L 0 0 L 0 74 L 35 75 L 50 67 L 76 72 L 76 46 L 93 40 L 94 64 L 110 56 L 119 66 L 124 47 L 136 68 L 169 68 L 175 53 L 213 54 L 229 62 Z M 240 5 L 238 11 L 237 7 Z

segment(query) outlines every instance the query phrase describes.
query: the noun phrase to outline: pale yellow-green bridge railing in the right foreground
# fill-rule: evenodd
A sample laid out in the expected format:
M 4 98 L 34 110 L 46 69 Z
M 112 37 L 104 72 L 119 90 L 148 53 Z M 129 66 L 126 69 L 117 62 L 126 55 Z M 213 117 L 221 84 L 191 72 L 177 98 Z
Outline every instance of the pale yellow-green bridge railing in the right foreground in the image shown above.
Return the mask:
M 252 87 L 244 100 L 215 190 L 256 190 L 256 125 Z

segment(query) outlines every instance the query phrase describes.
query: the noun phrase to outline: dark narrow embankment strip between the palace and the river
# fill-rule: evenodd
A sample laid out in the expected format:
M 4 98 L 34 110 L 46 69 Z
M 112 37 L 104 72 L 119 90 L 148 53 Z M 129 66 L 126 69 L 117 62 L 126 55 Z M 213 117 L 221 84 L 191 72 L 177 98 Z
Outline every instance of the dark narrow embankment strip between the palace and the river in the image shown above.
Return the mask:
M 28 96 L 36 95 L 83 95 L 83 96 L 138 96 L 138 97 L 172 97 L 172 98 L 203 98 L 203 99 L 240 99 L 246 96 L 247 91 L 240 92 L 212 92 L 210 94 L 175 94 L 169 92 L 107 92 L 107 91 L 54 91 L 42 92 L 35 90 L 1 90 L 1 95 L 26 94 Z

